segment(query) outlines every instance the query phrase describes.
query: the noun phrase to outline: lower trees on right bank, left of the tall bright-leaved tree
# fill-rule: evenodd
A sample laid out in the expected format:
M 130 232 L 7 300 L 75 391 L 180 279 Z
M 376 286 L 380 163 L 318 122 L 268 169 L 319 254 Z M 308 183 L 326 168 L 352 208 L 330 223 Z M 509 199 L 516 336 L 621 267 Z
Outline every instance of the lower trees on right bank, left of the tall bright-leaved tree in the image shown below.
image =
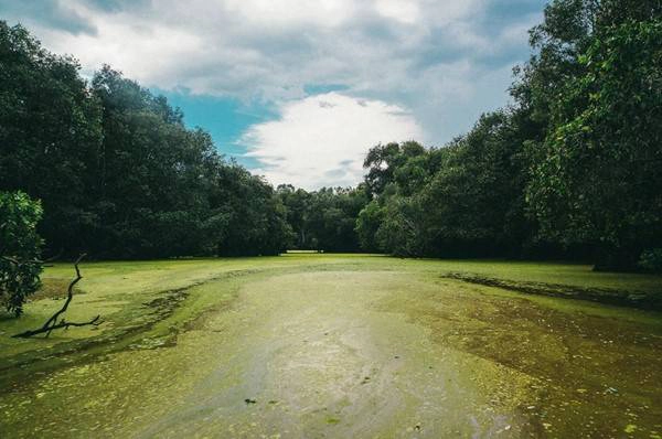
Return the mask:
M 391 164 L 369 170 L 393 178 L 359 215 L 364 246 L 401 256 L 516 254 L 527 229 L 517 128 L 517 119 L 501 111 L 446 148 L 416 154 L 403 148 L 398 157 L 392 146 Z

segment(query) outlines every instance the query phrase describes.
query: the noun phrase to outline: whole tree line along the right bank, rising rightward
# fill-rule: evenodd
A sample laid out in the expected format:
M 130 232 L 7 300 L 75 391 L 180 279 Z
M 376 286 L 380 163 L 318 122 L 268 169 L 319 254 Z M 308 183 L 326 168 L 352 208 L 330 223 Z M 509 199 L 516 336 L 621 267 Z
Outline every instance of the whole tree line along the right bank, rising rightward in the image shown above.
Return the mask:
M 514 104 L 444 148 L 373 148 L 363 248 L 662 268 L 662 3 L 556 0 Z

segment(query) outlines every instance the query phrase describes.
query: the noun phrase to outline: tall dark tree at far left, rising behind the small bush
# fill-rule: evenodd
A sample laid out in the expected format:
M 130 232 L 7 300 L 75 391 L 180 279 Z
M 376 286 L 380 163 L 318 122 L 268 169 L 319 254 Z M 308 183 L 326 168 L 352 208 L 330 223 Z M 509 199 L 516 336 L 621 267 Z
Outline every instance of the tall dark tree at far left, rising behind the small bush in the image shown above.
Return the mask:
M 0 21 L 0 190 L 42 201 L 40 233 L 57 251 L 81 238 L 102 144 L 100 108 L 71 57 Z

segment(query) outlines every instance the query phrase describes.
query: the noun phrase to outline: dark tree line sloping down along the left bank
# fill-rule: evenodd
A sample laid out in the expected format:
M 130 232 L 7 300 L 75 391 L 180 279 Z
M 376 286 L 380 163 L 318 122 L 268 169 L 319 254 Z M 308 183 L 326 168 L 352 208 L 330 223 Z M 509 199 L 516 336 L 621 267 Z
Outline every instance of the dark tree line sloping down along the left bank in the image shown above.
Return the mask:
M 291 231 L 274 189 L 209 133 L 105 66 L 0 22 L 0 190 L 41 201 L 45 250 L 75 257 L 276 255 Z

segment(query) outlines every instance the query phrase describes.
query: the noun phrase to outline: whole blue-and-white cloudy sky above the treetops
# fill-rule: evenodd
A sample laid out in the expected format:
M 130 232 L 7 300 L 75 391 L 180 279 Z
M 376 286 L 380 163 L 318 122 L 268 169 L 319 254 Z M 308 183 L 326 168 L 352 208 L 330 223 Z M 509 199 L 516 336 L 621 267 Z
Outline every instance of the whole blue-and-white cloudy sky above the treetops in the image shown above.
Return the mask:
M 0 0 L 107 63 L 275 184 L 353 185 L 378 142 L 440 146 L 508 103 L 543 0 Z

